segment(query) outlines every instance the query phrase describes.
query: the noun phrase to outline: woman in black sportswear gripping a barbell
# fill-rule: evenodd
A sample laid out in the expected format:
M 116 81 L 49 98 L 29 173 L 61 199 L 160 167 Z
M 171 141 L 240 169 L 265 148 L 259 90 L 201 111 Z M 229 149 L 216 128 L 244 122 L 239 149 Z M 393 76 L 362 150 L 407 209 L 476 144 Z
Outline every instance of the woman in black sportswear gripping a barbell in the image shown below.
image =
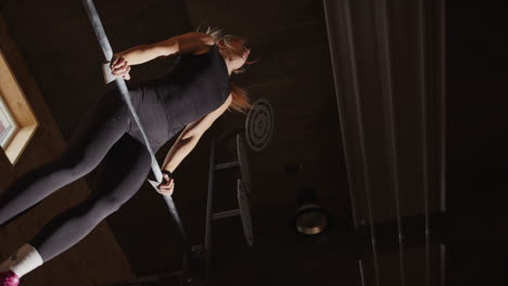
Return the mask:
M 250 50 L 245 40 L 220 31 L 188 32 L 115 55 L 112 74 L 129 79 L 130 66 L 158 56 L 178 56 L 164 77 L 129 88 L 132 104 L 154 153 L 183 129 L 164 164 L 161 194 L 172 194 L 172 173 L 203 133 L 228 108 L 251 107 L 245 93 L 229 83 L 241 73 Z M 246 64 L 251 64 L 249 62 Z M 0 265 L 0 286 L 18 285 L 20 277 L 65 251 L 141 187 L 151 171 L 151 157 L 140 130 L 119 92 L 100 98 L 54 160 L 22 176 L 0 200 L 0 225 L 103 161 L 93 194 L 62 212 Z

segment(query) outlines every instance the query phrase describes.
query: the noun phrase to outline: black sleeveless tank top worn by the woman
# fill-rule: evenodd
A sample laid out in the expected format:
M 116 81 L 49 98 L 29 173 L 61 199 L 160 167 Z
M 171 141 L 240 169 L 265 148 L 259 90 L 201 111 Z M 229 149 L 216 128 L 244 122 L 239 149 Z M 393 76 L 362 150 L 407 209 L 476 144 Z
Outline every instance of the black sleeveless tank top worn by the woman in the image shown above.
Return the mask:
M 217 46 L 199 55 L 180 55 L 164 77 L 129 88 L 132 104 L 156 152 L 178 131 L 217 109 L 230 93 L 228 68 Z M 144 144 L 136 121 L 127 132 Z

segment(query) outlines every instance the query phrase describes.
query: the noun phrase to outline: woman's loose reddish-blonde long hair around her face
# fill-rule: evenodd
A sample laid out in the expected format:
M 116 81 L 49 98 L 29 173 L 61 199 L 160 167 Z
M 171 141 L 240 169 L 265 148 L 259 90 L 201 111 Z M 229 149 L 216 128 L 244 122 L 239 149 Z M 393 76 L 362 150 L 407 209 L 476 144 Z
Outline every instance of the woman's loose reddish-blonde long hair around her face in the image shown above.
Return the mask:
M 199 31 L 199 29 L 200 28 L 198 27 L 196 31 Z M 245 38 L 233 36 L 233 35 L 224 35 L 223 31 L 218 28 L 213 29 L 208 27 L 205 32 L 212 36 L 216 44 L 226 47 L 226 49 L 230 49 L 230 51 L 234 51 L 234 48 L 231 44 L 231 42 L 233 41 L 241 41 L 243 44 L 246 43 Z M 245 64 L 241 68 L 234 69 L 232 70 L 232 73 L 237 75 L 242 74 L 245 72 L 246 65 L 251 65 L 255 62 L 257 61 L 245 62 Z M 229 88 L 231 90 L 231 95 L 232 95 L 232 102 L 229 105 L 228 109 L 229 110 L 233 109 L 236 112 L 245 114 L 249 109 L 253 107 L 253 105 L 249 101 L 247 92 L 237 87 L 236 84 L 233 84 L 231 80 L 228 81 L 228 84 L 229 84 Z

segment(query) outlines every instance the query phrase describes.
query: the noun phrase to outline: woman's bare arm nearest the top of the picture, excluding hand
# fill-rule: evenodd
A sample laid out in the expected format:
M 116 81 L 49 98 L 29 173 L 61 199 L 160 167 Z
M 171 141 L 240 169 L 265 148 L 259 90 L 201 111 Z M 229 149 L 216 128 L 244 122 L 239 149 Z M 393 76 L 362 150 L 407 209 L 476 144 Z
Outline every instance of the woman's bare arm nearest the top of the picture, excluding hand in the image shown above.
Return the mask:
M 123 56 L 128 65 L 139 65 L 158 56 L 196 53 L 211 44 L 214 44 L 214 41 L 209 35 L 191 31 L 164 41 L 136 46 L 117 55 Z

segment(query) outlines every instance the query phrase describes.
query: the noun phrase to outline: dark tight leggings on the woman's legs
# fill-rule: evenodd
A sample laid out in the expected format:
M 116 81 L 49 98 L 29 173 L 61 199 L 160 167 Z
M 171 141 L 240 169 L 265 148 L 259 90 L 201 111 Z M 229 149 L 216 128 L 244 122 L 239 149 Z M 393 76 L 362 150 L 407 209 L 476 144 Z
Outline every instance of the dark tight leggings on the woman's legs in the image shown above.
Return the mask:
M 23 174 L 2 192 L 0 226 L 103 160 L 92 194 L 53 218 L 28 243 L 46 262 L 82 239 L 132 197 L 150 172 L 147 146 L 127 133 L 131 123 L 136 125 L 118 92 L 101 96 L 59 157 Z

